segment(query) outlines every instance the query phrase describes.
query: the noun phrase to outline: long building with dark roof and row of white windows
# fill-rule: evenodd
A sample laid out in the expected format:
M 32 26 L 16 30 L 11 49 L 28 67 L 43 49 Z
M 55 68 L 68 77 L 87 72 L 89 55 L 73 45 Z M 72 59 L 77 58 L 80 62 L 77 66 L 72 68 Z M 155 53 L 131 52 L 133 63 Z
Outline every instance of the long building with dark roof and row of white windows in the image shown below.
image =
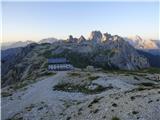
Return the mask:
M 73 65 L 70 64 L 66 58 L 49 58 L 48 59 L 48 70 L 63 71 L 72 70 Z

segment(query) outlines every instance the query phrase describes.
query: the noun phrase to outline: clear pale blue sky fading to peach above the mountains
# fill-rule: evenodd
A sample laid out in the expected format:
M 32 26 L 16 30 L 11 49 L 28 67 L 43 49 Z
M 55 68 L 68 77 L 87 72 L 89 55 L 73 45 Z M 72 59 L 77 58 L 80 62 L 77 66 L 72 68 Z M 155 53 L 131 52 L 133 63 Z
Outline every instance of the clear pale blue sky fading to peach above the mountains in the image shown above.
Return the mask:
M 100 30 L 158 39 L 158 2 L 3 2 L 3 42 L 89 36 Z

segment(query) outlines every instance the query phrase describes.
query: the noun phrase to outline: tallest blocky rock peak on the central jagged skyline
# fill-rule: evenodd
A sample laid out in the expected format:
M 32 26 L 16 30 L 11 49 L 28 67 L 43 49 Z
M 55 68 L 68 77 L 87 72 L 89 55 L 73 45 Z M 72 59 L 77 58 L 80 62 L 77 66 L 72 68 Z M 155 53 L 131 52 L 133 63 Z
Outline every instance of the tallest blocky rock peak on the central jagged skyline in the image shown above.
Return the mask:
M 101 43 L 102 33 L 100 31 L 92 31 L 89 39 L 92 40 L 94 43 Z

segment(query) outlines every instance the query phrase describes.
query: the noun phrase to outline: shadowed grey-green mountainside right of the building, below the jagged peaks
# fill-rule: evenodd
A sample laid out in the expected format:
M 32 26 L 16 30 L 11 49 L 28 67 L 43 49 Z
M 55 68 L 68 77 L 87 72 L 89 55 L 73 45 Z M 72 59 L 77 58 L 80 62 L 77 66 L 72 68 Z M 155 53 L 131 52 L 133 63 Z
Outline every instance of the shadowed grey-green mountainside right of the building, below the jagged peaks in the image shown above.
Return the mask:
M 149 67 L 148 60 L 141 56 L 128 42 L 119 36 L 111 36 L 113 40 L 104 43 L 66 44 L 59 46 L 53 54 L 65 54 L 68 59 L 76 56 L 73 63 L 84 63 L 103 67 L 105 69 L 137 70 Z M 84 60 L 84 61 L 83 61 Z M 76 67 L 79 65 L 74 64 Z M 83 66 L 83 65 L 82 65 Z

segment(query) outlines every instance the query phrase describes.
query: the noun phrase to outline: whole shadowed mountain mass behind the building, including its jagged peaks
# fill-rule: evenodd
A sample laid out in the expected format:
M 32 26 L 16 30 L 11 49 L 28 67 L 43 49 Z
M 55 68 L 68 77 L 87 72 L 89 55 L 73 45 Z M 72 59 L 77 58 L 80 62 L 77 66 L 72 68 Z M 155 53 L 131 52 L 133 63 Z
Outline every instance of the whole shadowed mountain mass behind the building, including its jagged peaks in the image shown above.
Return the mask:
M 67 40 L 48 38 L 2 50 L 1 54 L 2 86 L 47 74 L 51 57 L 65 57 L 76 68 L 91 65 L 107 70 L 139 70 L 160 66 L 160 56 L 135 48 L 123 37 L 100 31 L 92 31 L 89 39 L 72 35 Z

